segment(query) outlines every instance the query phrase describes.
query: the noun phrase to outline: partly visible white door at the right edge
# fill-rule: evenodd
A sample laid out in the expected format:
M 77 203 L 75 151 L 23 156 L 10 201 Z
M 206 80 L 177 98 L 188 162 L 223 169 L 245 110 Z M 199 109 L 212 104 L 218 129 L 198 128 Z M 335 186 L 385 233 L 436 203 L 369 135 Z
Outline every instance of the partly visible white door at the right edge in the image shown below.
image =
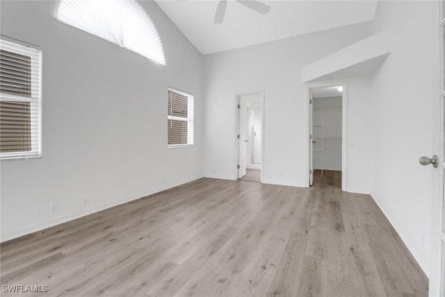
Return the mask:
M 440 94 L 440 115 L 435 115 L 435 127 L 433 135 L 439 136 L 439 157 L 438 170 L 434 172 L 433 199 L 435 199 L 434 208 L 439 210 L 439 219 L 433 218 L 432 238 L 432 275 L 430 275 L 430 296 L 445 296 L 445 0 L 441 1 L 441 22 L 440 22 L 440 72 L 441 72 L 441 94 Z M 437 145 L 435 145 L 437 147 Z M 424 159 L 428 163 L 428 158 Z M 436 182 L 439 180 L 439 182 Z M 437 224 L 439 226 L 437 226 Z M 437 243 L 437 244 L 435 244 Z

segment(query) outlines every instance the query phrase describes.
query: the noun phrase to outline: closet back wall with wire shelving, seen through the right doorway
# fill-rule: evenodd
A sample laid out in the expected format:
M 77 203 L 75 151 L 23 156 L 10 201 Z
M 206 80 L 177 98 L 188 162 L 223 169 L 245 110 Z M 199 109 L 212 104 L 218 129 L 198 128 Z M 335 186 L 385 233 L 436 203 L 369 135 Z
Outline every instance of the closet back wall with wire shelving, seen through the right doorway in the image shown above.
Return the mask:
M 312 135 L 314 168 L 341 171 L 341 97 L 315 98 Z

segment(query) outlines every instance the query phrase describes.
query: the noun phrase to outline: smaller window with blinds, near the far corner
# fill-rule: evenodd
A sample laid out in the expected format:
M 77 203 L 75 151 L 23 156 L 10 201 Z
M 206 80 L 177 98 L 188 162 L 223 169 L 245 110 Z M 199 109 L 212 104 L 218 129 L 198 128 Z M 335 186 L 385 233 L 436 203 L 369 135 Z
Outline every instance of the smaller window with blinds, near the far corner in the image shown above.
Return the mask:
M 193 145 L 193 95 L 168 89 L 168 147 Z

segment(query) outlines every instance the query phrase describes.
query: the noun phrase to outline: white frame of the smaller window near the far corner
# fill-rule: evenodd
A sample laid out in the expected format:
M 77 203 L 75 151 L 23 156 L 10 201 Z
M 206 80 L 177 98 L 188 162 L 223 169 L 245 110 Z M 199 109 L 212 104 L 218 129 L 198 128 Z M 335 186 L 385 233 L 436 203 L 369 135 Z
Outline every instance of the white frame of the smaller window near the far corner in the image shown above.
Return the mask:
M 169 120 L 179 120 L 179 121 L 183 121 L 183 122 L 187 122 L 187 131 L 191 131 L 187 132 L 187 143 L 181 143 L 181 144 L 174 144 L 174 145 L 170 145 L 168 144 L 168 138 L 169 138 L 169 130 L 168 130 L 168 126 L 167 126 L 167 147 L 170 148 L 179 148 L 179 147 L 193 147 L 193 145 L 195 145 L 195 96 L 192 93 L 188 93 L 188 92 L 184 92 L 183 90 L 178 90 L 177 88 L 172 88 L 172 87 L 168 87 L 167 88 L 167 106 L 168 106 L 168 92 L 172 91 L 175 93 L 179 93 L 180 95 L 184 95 L 188 98 L 187 101 L 187 109 L 188 111 L 192 111 L 192 113 L 188 113 L 187 118 L 184 117 L 179 117 L 176 115 L 170 115 L 169 111 L 167 109 L 167 121 Z M 168 122 L 167 122 L 168 125 Z

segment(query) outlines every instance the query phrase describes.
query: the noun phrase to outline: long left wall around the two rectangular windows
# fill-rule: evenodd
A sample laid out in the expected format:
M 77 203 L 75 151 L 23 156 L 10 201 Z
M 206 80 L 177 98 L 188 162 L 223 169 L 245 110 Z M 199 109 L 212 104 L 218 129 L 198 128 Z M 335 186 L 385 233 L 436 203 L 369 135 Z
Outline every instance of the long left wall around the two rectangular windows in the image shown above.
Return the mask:
M 152 1 L 165 66 L 57 22 L 57 3 L 1 1 L 1 34 L 43 52 L 43 155 L 1 161 L 2 241 L 202 177 L 202 55 Z M 195 95 L 193 147 L 167 149 L 168 86 Z

